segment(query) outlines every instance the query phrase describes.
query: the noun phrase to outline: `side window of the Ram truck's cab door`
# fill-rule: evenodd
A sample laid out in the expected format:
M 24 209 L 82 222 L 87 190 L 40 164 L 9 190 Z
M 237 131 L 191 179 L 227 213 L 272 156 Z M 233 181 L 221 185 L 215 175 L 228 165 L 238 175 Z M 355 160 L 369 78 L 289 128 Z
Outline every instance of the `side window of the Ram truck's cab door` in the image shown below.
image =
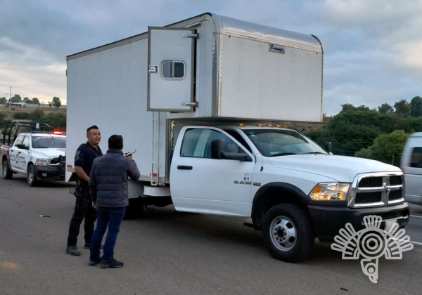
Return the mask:
M 231 138 L 225 134 L 212 129 L 188 129 L 184 134 L 181 143 L 181 157 L 199 157 L 212 159 L 211 143 L 212 140 L 222 140 L 224 152 L 243 152 Z

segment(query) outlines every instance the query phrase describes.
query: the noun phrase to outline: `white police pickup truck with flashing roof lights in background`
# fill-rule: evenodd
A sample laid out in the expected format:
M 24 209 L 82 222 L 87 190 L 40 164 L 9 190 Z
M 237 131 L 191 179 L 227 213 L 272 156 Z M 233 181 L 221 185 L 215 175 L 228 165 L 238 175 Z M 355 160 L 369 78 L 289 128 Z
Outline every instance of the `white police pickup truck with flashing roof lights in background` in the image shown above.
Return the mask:
M 11 179 L 13 173 L 20 173 L 27 176 L 30 186 L 42 180 L 65 180 L 66 136 L 46 124 L 39 126 L 18 122 L 6 125 L 4 144 L 1 145 L 3 178 Z M 25 129 L 31 130 L 20 132 Z M 8 144 L 13 138 L 13 145 Z

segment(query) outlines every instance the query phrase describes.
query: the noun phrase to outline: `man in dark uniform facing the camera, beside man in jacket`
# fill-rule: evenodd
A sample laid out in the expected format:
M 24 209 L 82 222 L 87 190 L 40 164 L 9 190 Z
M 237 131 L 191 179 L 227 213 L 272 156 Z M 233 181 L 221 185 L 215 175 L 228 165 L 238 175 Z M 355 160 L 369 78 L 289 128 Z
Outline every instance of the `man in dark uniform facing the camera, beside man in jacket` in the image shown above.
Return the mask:
M 70 220 L 68 246 L 66 247 L 66 253 L 74 256 L 79 256 L 81 254 L 76 245 L 82 221 L 85 218 L 84 249 L 89 249 L 91 238 L 94 233 L 94 223 L 97 218 L 96 209 L 91 204 L 88 186 L 92 162 L 94 162 L 96 157 L 103 155 L 101 148 L 98 146 L 101 141 L 101 133 L 97 126 L 93 125 L 87 129 L 87 138 L 87 143 L 79 145 L 75 154 L 75 173 L 78 176 L 74 192 L 76 202 L 75 211 Z

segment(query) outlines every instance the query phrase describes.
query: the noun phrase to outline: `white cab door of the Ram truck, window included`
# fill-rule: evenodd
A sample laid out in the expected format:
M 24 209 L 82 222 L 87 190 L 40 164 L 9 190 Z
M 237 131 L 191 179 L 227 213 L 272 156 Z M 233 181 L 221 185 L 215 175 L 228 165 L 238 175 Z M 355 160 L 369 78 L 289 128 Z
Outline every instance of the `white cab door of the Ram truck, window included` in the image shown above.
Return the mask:
M 213 140 L 222 140 L 224 155 L 233 152 L 245 159 L 215 158 Z M 250 217 L 255 166 L 255 157 L 221 129 L 182 128 L 170 167 L 170 192 L 175 209 Z

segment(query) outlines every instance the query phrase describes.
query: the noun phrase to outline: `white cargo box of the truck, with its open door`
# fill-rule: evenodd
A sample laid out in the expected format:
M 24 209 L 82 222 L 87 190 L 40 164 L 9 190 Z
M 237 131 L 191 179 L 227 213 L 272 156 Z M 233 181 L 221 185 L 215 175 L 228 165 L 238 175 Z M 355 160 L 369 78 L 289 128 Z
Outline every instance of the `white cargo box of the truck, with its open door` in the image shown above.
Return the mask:
M 141 181 L 168 183 L 174 119 L 322 121 L 316 37 L 204 13 L 67 57 L 68 173 L 87 127 L 134 150 Z

